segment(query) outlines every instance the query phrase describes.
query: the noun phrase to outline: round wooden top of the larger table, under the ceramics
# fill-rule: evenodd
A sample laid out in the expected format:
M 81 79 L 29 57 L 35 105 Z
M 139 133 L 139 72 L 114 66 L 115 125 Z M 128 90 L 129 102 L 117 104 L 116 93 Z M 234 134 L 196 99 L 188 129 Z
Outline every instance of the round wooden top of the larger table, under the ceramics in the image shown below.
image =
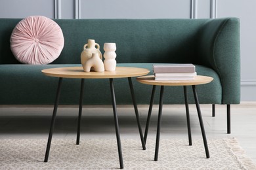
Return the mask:
M 57 67 L 44 69 L 41 72 L 47 76 L 62 78 L 127 78 L 147 75 L 150 71 L 137 67 L 116 67 L 116 71 L 85 72 L 83 67 Z

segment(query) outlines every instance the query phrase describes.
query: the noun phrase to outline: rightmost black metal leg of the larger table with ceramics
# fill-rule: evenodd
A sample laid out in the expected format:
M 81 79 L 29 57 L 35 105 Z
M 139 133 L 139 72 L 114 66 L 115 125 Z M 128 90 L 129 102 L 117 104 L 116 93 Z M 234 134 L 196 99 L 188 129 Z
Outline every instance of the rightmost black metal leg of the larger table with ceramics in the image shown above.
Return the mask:
M 142 133 L 142 129 L 141 129 L 141 126 L 140 126 L 139 111 L 138 111 L 137 102 L 136 102 L 136 99 L 135 99 L 135 93 L 134 93 L 134 90 L 133 90 L 133 82 L 131 80 L 131 77 L 128 77 L 128 80 L 129 80 L 129 86 L 130 86 L 130 90 L 131 90 L 131 98 L 133 99 L 133 107 L 135 109 L 137 125 L 139 127 L 140 141 L 141 141 L 143 150 L 146 150 L 145 141 L 143 139 L 143 133 Z

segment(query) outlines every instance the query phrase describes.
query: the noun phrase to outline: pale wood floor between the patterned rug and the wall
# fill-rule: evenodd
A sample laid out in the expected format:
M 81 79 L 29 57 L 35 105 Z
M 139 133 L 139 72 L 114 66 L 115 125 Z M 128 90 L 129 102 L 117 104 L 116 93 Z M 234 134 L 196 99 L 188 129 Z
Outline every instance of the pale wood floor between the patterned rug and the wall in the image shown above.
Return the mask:
M 139 105 L 142 130 L 146 124 L 148 105 Z M 211 116 L 211 105 L 201 105 L 207 139 L 236 137 L 249 158 L 256 162 L 256 103 L 231 105 L 231 134 L 226 133 L 226 105 L 216 105 L 216 116 Z M 48 138 L 53 106 L 0 106 L 0 139 Z M 53 140 L 75 140 L 77 106 L 60 106 L 57 112 Z M 134 109 L 131 105 L 117 105 L 121 139 L 139 140 Z M 158 105 L 154 105 L 148 138 L 156 139 Z M 188 139 L 186 113 L 183 105 L 164 105 L 161 138 Z M 190 105 L 192 139 L 202 139 L 196 107 Z M 83 108 L 81 139 L 116 139 L 112 107 Z

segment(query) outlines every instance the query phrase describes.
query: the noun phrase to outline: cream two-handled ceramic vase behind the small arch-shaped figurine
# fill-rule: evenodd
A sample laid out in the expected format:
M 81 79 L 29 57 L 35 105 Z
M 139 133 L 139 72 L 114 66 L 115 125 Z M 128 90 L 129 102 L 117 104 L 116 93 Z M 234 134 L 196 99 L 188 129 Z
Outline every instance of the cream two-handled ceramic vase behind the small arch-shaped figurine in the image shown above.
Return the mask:
M 92 55 L 98 54 L 98 57 L 102 59 L 102 54 L 100 52 L 100 45 L 95 43 L 94 39 L 89 39 L 88 43 L 83 46 L 83 51 L 81 52 L 81 64 L 83 65 L 83 69 L 85 70 L 85 63 L 88 59 L 92 57 Z M 93 69 L 92 69 L 93 71 Z

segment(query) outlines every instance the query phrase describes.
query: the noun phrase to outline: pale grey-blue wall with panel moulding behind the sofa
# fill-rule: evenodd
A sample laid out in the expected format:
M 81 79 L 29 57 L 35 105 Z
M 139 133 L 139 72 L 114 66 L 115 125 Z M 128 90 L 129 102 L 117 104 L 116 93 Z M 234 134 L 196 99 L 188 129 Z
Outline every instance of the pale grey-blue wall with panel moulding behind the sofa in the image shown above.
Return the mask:
M 1 0 L 0 18 L 223 18 L 241 21 L 242 101 L 256 101 L 255 0 Z

